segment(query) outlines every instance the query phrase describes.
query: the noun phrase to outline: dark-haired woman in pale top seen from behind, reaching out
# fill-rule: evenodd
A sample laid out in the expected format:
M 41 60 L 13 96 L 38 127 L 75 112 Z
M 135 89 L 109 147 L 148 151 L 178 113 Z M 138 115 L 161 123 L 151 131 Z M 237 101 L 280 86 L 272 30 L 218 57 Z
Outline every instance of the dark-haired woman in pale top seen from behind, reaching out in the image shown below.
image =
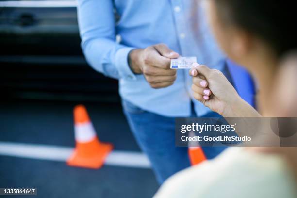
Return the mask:
M 296 116 L 292 109 L 297 107 L 297 64 L 286 68 L 286 72 L 279 68 L 283 55 L 297 48 L 297 32 L 290 23 L 295 18 L 294 2 L 208 3 L 210 23 L 221 48 L 233 61 L 245 66 L 257 82 L 260 113 L 240 99 L 221 72 L 198 64 L 190 71 L 195 98 L 224 117 Z M 294 198 L 296 154 L 296 147 L 228 148 L 213 161 L 169 178 L 155 197 Z

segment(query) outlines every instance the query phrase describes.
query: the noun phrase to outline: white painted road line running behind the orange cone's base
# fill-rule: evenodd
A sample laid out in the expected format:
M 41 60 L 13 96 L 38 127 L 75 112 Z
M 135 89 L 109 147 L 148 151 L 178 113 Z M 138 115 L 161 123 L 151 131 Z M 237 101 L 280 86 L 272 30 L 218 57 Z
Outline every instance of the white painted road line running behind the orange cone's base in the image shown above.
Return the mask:
M 72 151 L 70 147 L 0 142 L 0 155 L 13 157 L 65 162 Z M 112 151 L 104 165 L 150 168 L 147 156 L 133 151 Z

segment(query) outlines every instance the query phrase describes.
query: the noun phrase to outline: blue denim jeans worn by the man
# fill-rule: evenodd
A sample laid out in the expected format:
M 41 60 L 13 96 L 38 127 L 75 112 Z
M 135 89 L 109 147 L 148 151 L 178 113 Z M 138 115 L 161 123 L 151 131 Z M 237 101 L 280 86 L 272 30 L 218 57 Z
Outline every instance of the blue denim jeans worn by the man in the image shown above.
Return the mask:
M 190 166 L 188 148 L 175 146 L 175 118 L 145 111 L 126 100 L 122 100 L 122 105 L 131 131 L 142 151 L 147 154 L 160 184 Z M 211 112 L 204 117 L 220 115 Z M 203 147 L 203 151 L 208 159 L 212 159 L 225 148 Z

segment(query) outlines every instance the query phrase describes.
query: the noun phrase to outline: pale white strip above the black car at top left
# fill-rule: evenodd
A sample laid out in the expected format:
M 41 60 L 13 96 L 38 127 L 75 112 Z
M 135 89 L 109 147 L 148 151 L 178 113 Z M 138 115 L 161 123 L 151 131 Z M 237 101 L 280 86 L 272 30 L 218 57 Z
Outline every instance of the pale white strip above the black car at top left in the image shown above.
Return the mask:
M 0 7 L 13 8 L 57 8 L 76 7 L 76 0 L 8 0 L 0 1 Z

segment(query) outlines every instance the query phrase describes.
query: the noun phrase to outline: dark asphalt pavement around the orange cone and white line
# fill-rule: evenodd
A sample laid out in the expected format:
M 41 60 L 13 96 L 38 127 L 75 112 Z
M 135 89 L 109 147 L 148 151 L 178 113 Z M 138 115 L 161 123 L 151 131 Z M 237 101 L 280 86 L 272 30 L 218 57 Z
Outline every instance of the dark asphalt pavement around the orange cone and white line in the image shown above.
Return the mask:
M 2 101 L 0 141 L 74 148 L 72 110 L 76 104 Z M 141 152 L 120 104 L 83 104 L 101 141 L 113 143 L 118 151 Z M 0 187 L 36 187 L 41 198 L 150 198 L 159 186 L 149 168 L 104 165 L 94 170 L 61 161 L 0 155 Z

